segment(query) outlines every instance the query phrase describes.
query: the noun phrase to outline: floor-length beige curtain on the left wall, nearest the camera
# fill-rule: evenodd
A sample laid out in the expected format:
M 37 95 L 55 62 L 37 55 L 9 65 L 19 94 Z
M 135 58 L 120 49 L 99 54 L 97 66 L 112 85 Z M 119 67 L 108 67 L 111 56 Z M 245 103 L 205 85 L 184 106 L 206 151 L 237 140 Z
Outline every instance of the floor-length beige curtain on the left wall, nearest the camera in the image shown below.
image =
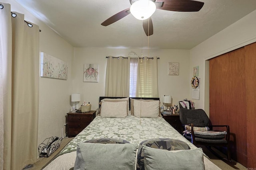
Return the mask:
M 4 169 L 20 170 L 38 155 L 39 27 L 1 4 Z

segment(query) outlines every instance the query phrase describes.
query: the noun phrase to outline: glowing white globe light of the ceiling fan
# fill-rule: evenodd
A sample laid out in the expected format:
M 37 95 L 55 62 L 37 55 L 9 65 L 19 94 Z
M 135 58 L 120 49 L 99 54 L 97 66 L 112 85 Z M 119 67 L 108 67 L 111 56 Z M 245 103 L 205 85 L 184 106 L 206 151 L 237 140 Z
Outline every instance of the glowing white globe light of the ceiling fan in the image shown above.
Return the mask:
M 130 7 L 131 14 L 138 20 L 146 20 L 154 14 L 156 5 L 151 0 L 138 0 Z

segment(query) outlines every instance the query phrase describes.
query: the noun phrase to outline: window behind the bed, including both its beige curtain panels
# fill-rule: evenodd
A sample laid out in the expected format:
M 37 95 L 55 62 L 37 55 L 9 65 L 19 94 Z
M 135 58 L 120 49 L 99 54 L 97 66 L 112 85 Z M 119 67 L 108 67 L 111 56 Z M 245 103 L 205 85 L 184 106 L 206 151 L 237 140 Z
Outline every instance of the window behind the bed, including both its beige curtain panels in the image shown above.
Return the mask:
M 119 58 L 108 59 L 105 96 L 158 97 L 157 57 Z

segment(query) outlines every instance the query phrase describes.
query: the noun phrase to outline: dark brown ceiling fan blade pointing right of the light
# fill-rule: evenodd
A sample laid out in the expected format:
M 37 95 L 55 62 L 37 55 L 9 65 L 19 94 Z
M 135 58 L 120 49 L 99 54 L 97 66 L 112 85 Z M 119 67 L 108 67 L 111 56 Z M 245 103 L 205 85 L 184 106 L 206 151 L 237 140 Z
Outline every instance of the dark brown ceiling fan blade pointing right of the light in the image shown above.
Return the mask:
M 179 12 L 197 12 L 204 6 L 204 2 L 194 0 L 156 0 L 156 2 L 164 2 L 158 9 Z

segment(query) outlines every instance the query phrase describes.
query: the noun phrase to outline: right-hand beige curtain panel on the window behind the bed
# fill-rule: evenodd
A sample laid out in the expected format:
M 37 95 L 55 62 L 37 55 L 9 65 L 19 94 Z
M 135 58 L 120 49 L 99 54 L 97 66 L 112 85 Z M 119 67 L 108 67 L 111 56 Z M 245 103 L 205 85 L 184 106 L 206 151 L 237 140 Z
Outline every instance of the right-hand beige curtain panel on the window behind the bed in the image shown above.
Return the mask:
M 157 57 L 138 60 L 136 97 L 158 98 Z

